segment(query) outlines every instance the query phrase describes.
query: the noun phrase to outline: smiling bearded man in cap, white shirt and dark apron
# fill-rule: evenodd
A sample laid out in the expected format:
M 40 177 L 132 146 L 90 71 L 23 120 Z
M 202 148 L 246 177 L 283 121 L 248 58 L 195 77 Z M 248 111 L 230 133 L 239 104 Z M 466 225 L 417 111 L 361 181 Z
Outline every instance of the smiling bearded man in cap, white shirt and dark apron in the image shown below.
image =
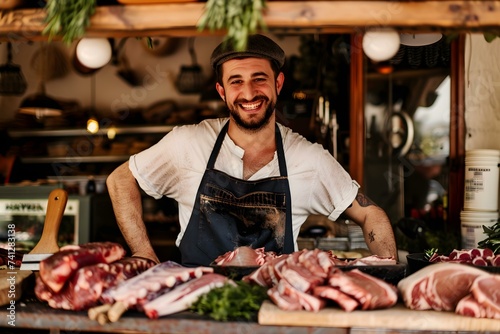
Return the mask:
M 384 211 L 323 146 L 276 122 L 283 50 L 253 35 L 245 51 L 221 43 L 210 60 L 229 117 L 176 127 L 108 177 L 132 255 L 158 261 L 142 220 L 142 189 L 178 202 L 185 266 L 209 265 L 240 246 L 292 253 L 311 214 L 332 221 L 344 214 L 362 227 L 372 253 L 396 258 Z

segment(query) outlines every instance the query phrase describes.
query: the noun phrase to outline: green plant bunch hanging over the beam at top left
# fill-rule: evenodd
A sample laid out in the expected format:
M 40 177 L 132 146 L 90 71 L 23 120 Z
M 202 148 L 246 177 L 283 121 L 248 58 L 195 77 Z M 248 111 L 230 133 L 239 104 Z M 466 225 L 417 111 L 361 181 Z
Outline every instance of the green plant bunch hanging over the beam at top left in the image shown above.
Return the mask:
M 49 41 L 60 35 L 64 43 L 71 44 L 85 34 L 96 6 L 96 0 L 47 0 L 43 34 Z

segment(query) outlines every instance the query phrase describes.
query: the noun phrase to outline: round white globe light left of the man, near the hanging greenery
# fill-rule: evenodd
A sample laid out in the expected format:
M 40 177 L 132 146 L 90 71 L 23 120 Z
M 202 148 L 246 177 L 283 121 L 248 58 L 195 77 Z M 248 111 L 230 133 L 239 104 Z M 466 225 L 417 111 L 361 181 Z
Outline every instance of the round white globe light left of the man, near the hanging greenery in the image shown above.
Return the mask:
M 80 63 L 91 69 L 101 68 L 111 60 L 111 44 L 106 38 L 82 38 L 76 46 Z

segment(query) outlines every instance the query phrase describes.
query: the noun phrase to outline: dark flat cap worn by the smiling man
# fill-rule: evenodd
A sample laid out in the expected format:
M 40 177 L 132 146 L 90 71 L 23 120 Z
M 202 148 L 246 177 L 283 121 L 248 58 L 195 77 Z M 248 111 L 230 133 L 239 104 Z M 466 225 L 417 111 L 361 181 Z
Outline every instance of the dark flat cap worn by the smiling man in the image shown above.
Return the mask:
M 279 68 L 285 64 L 285 52 L 272 39 L 263 35 L 250 35 L 244 51 L 235 50 L 230 41 L 219 44 L 212 52 L 210 66 L 215 70 L 228 60 L 245 57 L 266 58 L 276 62 Z

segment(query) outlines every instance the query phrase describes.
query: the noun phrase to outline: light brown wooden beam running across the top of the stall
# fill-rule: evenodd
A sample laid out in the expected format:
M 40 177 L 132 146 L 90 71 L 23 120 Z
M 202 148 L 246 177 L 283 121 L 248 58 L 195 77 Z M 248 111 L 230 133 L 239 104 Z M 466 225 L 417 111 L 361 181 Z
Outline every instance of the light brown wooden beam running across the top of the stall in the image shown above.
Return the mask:
M 204 3 L 98 6 L 88 35 L 188 36 Z M 500 1 L 268 1 L 265 22 L 270 30 L 288 33 L 363 32 L 368 27 L 401 30 L 498 30 Z M 43 8 L 0 11 L 0 38 L 43 38 Z M 219 34 L 221 32 L 218 32 Z

